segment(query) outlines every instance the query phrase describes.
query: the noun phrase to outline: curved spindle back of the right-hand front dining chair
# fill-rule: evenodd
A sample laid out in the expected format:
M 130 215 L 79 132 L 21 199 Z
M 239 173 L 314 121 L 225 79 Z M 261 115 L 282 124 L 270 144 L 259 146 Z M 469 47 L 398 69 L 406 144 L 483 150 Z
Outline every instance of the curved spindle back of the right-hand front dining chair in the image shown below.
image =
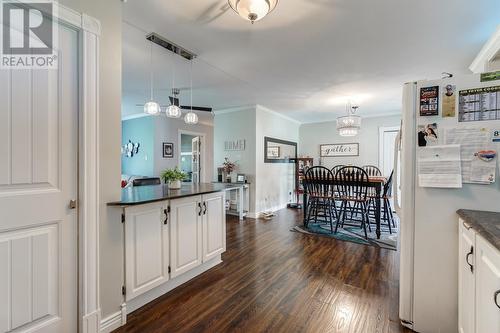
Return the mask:
M 337 171 L 335 175 L 337 188 L 341 197 L 364 201 L 368 196 L 368 174 L 355 166 L 347 166 Z

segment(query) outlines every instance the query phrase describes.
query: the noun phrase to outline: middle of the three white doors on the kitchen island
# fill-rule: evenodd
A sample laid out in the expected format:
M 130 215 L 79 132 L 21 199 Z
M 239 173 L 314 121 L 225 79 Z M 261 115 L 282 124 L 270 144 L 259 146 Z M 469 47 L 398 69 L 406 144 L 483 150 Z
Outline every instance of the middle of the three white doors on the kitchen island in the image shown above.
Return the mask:
M 201 196 L 170 201 L 170 267 L 174 278 L 202 263 Z

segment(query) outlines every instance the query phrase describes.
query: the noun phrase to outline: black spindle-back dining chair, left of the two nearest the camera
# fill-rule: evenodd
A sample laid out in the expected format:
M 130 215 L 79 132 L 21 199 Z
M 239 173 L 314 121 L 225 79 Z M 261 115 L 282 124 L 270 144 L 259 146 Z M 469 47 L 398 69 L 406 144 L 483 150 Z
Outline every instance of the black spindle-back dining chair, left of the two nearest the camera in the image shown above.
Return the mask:
M 330 229 L 333 232 L 333 220 L 337 217 L 333 181 L 333 173 L 325 167 L 314 166 L 306 171 L 304 175 L 304 185 L 308 196 L 306 227 L 312 217 L 317 223 L 318 216 L 322 214 L 330 223 Z

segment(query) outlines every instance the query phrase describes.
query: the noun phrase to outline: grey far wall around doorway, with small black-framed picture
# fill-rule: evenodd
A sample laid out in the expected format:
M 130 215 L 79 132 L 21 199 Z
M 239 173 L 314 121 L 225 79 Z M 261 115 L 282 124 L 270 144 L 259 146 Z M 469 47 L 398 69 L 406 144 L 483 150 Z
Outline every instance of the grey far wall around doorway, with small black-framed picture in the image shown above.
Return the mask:
M 159 176 L 167 168 L 180 167 L 180 144 L 179 130 L 201 133 L 205 136 L 204 149 L 204 178 L 202 182 L 210 183 L 213 180 L 214 165 L 214 127 L 208 124 L 198 123 L 188 125 L 183 118 L 172 119 L 165 116 L 154 117 L 154 174 Z M 172 142 L 174 144 L 174 157 L 163 158 L 163 142 Z

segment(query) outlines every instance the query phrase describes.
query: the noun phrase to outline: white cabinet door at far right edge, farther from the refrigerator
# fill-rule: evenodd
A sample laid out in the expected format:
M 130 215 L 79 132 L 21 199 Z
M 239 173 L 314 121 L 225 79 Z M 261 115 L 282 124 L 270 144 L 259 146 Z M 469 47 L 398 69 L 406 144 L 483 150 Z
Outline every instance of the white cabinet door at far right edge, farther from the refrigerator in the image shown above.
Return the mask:
M 500 252 L 476 236 L 476 332 L 500 332 Z

